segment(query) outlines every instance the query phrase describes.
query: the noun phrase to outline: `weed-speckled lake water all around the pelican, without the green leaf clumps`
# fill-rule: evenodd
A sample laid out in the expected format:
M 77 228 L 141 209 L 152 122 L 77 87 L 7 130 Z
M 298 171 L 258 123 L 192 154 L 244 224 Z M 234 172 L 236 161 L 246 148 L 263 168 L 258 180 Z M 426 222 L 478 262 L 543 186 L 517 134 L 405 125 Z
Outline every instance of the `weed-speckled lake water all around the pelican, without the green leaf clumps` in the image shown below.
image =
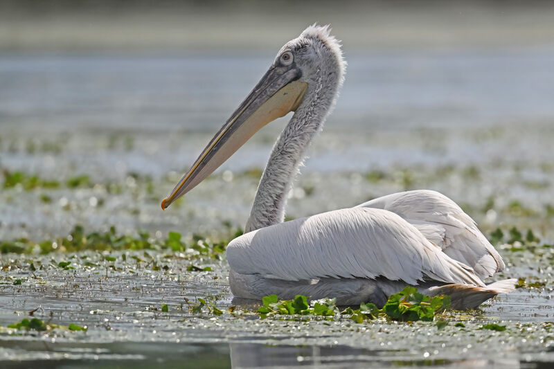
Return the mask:
M 53 240 L 75 224 L 129 234 L 179 231 L 188 239 L 193 233 L 217 237 L 224 222 L 244 226 L 259 170 L 286 118 L 262 129 L 184 201 L 164 212 L 159 201 L 273 57 L 2 55 L 0 169 L 61 184 L 3 189 L 0 240 Z M 310 149 L 290 194 L 289 216 L 431 188 L 461 204 L 485 233 L 517 226 L 533 228 L 543 242 L 554 240 L 548 210 L 554 198 L 553 48 L 346 57 L 337 108 Z M 91 183 L 66 186 L 78 174 Z M 152 270 L 132 260 L 132 251 L 126 261 L 114 253 L 114 263 L 100 253 L 1 255 L 0 325 L 39 307 L 35 316 L 44 321 L 88 325 L 89 331 L 1 332 L 0 361 L 14 368 L 546 368 L 554 361 L 552 251 L 501 253 L 508 262 L 501 277 L 546 286 L 501 296 L 481 315 L 455 317 L 467 319 L 465 329 L 452 322 L 441 331 L 423 323 L 324 325 L 233 316 L 224 260 L 154 253 L 168 270 Z M 75 270 L 57 267 L 64 260 Z M 30 262 L 44 269 L 31 272 Z M 191 263 L 214 271 L 188 272 Z M 21 285 L 13 285 L 15 278 Z M 185 298 L 206 296 L 215 296 L 225 314 L 188 311 Z M 159 311 L 161 303 L 170 306 L 168 314 Z M 508 329 L 479 330 L 491 321 Z

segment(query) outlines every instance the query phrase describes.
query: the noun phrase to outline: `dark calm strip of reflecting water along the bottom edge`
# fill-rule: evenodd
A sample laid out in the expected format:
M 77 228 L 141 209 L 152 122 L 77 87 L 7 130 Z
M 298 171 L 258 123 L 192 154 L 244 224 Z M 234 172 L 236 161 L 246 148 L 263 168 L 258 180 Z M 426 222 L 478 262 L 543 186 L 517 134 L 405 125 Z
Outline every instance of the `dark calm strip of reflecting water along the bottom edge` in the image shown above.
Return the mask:
M 17 350 L 17 341 L 3 342 Z M 372 351 L 332 345 L 269 345 L 267 343 L 94 343 L 26 342 L 28 356 L 2 362 L 2 368 L 551 368 L 542 361 L 517 359 L 409 359 L 406 352 Z M 0 359 L 1 360 L 1 359 Z

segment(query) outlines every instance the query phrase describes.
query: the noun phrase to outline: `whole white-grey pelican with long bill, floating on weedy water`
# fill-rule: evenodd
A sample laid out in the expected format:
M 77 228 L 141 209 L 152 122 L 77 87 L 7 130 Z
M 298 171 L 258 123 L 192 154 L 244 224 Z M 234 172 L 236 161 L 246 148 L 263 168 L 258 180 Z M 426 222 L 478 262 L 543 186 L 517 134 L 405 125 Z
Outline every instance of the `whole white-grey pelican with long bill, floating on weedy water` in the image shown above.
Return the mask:
M 271 151 L 246 233 L 227 246 L 235 297 L 303 294 L 336 298 L 339 305 L 382 306 L 411 285 L 430 296 L 447 294 L 452 307 L 467 309 L 512 291 L 514 279 L 483 282 L 504 269 L 502 258 L 473 219 L 439 192 L 399 192 L 283 222 L 287 194 L 305 150 L 335 105 L 345 69 L 341 44 L 329 26 L 314 24 L 287 42 L 163 199 L 162 209 L 202 182 L 260 128 L 294 111 Z

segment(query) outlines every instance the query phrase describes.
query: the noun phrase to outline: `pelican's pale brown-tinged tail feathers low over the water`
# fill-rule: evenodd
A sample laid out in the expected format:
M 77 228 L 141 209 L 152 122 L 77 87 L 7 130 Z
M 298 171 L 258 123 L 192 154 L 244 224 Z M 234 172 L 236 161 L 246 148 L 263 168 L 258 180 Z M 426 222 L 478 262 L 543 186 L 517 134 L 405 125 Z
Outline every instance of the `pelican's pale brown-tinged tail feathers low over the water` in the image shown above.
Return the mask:
M 450 296 L 452 309 L 465 310 L 474 309 L 483 302 L 497 296 L 498 294 L 508 294 L 515 290 L 516 279 L 499 280 L 486 287 L 476 287 L 472 285 L 462 285 L 453 283 L 451 285 L 430 287 L 429 294 Z

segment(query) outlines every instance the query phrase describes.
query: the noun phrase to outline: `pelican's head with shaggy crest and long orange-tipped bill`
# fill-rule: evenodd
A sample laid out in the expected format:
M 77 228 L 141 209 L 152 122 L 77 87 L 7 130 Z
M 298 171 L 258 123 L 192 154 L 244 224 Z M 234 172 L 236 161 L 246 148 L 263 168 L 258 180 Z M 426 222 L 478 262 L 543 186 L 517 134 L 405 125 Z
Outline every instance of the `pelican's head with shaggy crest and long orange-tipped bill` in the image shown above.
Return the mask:
M 297 111 L 299 107 L 318 107 L 326 116 L 343 82 L 345 66 L 341 45 L 330 35 L 328 26 L 310 26 L 299 37 L 287 42 L 260 82 L 213 136 L 170 195 L 163 199 L 161 208 L 167 208 L 192 190 L 253 134 L 276 118 Z

